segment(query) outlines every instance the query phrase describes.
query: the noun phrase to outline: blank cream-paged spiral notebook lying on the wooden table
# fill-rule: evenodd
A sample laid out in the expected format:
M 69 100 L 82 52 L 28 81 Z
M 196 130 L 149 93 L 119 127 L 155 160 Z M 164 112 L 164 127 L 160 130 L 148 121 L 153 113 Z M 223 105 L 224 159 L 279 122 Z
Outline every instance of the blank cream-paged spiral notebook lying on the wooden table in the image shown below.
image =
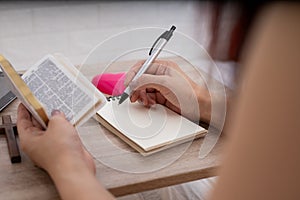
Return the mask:
M 207 130 L 163 105 L 146 108 L 128 99 L 109 97 L 96 114 L 109 131 L 144 156 L 203 137 Z

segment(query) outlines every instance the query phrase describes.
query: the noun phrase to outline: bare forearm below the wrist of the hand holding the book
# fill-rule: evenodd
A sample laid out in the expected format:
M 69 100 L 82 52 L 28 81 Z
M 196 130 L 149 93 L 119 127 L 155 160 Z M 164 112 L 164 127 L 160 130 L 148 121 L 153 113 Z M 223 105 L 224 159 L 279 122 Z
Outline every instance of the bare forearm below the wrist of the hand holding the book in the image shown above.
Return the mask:
M 73 165 L 69 169 L 49 170 L 62 199 L 114 199 L 100 184 L 95 175 L 84 166 Z

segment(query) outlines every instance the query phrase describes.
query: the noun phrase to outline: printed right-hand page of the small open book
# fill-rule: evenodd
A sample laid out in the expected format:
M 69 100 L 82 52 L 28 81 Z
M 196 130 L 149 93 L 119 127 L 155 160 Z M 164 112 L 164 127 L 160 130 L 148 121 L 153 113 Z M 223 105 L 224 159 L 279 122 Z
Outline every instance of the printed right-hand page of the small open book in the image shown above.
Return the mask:
M 93 106 L 105 102 L 88 80 L 82 83 L 79 72 L 68 71 L 54 57 L 47 56 L 30 68 L 23 76 L 32 93 L 44 106 L 48 116 L 54 109 L 64 112 L 66 118 L 76 124 Z

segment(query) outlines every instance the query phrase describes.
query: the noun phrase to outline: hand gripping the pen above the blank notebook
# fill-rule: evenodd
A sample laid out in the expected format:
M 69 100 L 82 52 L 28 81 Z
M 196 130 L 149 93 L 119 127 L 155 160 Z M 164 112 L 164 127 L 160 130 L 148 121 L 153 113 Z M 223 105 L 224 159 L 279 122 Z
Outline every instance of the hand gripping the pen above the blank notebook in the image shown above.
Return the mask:
M 135 64 L 126 74 L 128 85 L 143 62 Z M 179 66 L 171 61 L 155 61 L 135 82 L 130 83 L 131 102 L 144 106 L 162 104 L 193 121 L 210 120 L 210 95 L 207 88 L 197 85 Z

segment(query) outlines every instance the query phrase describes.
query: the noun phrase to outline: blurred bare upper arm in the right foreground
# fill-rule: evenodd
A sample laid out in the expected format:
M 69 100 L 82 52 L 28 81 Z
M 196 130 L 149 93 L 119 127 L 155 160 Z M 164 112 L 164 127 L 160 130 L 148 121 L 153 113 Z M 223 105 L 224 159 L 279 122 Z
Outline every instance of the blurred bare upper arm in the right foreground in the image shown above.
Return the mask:
M 276 4 L 254 29 L 213 200 L 300 199 L 299 21 L 299 4 Z

